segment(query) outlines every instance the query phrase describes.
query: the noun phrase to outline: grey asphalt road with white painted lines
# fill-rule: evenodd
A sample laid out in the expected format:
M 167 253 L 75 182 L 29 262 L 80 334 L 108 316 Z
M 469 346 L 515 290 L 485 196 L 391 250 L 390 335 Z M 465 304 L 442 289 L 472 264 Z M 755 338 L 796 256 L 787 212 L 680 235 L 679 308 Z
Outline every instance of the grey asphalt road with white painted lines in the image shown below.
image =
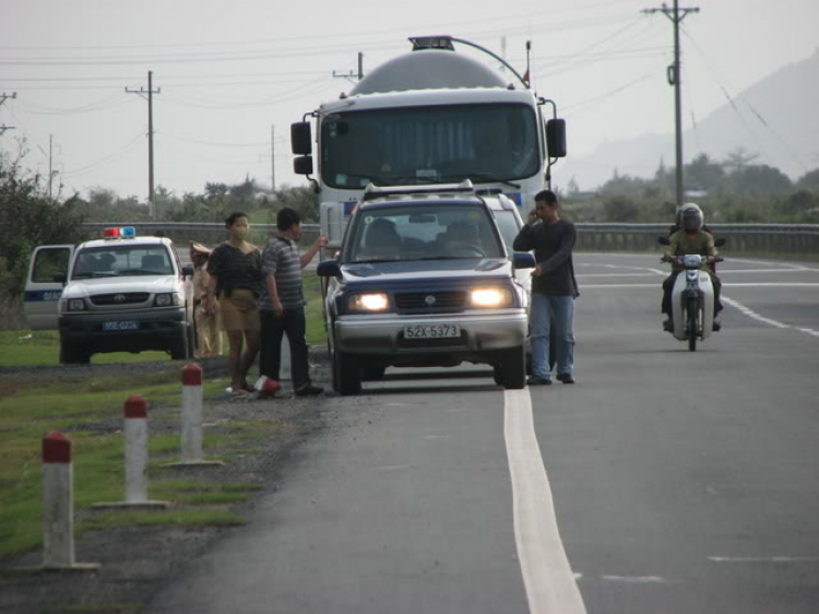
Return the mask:
M 817 612 L 819 265 L 723 263 L 691 353 L 657 257 L 575 263 L 577 385 L 472 367 L 325 399 L 250 524 L 147 611 Z

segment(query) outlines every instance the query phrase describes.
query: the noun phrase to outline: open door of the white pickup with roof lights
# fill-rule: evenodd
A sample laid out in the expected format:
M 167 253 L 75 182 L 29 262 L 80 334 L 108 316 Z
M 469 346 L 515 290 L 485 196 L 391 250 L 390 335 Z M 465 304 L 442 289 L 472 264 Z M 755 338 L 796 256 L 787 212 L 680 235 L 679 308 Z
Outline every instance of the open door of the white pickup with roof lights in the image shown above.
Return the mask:
M 57 330 L 62 287 L 74 252 L 72 245 L 45 245 L 32 253 L 23 295 L 23 312 L 34 330 Z

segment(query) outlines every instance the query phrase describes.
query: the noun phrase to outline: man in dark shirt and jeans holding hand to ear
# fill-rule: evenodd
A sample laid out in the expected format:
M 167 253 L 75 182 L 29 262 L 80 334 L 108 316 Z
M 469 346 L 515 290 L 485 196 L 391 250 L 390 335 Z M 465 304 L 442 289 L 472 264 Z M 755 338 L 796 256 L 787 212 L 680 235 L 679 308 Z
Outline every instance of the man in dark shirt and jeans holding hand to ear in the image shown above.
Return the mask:
M 548 366 L 549 332 L 555 327 L 557 379 L 574 383 L 574 299 L 579 296 L 571 252 L 574 224 L 561 220 L 557 196 L 543 190 L 535 196 L 535 211 L 514 238 L 517 251 L 535 250 L 532 272 L 532 305 L 529 321 L 532 338 L 530 386 L 551 383 Z

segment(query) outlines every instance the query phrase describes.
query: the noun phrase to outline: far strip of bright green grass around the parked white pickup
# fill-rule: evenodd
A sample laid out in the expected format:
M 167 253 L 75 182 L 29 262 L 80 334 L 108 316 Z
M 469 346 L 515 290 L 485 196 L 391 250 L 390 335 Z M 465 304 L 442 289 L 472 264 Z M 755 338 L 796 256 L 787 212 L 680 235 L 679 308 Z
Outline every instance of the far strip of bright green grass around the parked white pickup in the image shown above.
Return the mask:
M 327 343 L 324 317 L 321 299 L 321 279 L 314 273 L 305 273 L 305 298 L 307 298 L 307 342 L 311 345 Z M 223 347 L 227 351 L 227 339 Z M 52 330 L 7 330 L 0 331 L 0 367 L 39 367 L 59 364 L 60 338 Z M 92 365 L 117 363 L 170 362 L 166 352 L 115 352 L 94 354 Z

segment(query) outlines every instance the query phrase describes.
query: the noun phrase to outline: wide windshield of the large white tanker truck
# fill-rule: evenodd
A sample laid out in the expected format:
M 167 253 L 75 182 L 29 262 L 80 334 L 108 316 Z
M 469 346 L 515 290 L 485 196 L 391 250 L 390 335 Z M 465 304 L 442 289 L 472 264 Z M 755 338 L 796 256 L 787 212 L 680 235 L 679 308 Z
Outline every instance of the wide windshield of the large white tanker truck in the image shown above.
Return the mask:
M 522 104 L 348 111 L 321 125 L 321 174 L 333 188 L 508 181 L 539 172 L 535 114 Z

